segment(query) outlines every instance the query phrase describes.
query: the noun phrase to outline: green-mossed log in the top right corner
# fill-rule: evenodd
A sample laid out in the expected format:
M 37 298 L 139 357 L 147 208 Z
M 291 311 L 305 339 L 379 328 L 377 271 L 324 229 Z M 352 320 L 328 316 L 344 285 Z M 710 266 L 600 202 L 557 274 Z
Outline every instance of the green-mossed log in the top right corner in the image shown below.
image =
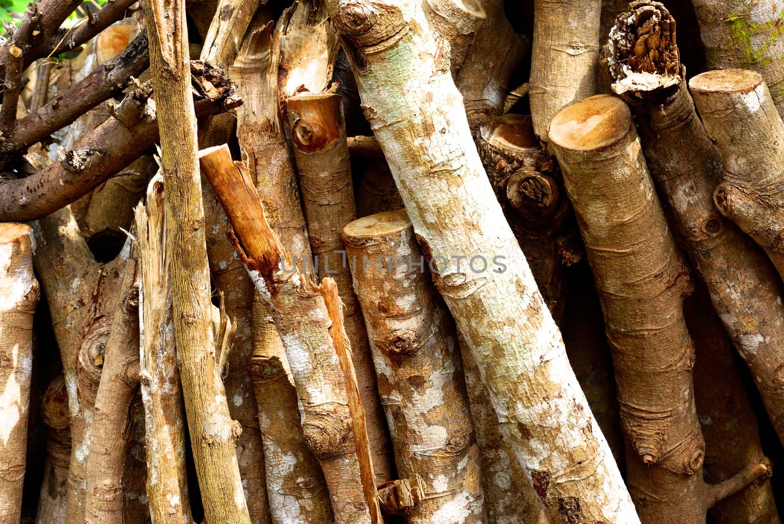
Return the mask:
M 784 111 L 784 1 L 692 0 L 708 69 L 750 69 L 765 79 Z

